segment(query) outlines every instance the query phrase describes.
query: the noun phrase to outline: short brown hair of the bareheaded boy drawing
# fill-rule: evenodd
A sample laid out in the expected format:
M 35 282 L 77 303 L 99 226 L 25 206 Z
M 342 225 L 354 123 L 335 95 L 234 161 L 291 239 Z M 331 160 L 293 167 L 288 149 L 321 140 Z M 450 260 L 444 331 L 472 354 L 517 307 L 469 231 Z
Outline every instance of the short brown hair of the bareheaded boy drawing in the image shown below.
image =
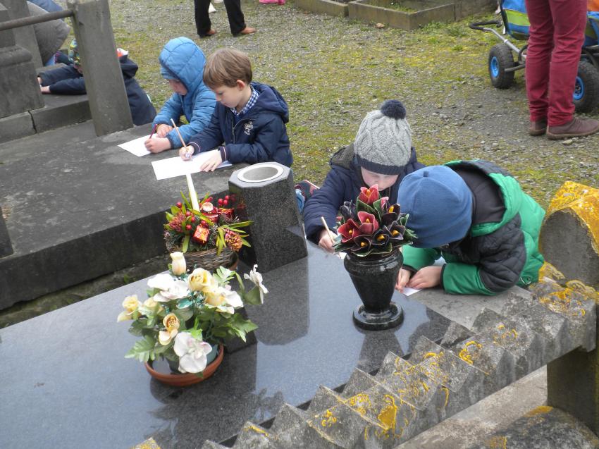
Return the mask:
M 247 54 L 235 49 L 218 49 L 208 56 L 204 66 L 204 84 L 211 89 L 235 87 L 237 80 L 252 81 L 252 63 Z

